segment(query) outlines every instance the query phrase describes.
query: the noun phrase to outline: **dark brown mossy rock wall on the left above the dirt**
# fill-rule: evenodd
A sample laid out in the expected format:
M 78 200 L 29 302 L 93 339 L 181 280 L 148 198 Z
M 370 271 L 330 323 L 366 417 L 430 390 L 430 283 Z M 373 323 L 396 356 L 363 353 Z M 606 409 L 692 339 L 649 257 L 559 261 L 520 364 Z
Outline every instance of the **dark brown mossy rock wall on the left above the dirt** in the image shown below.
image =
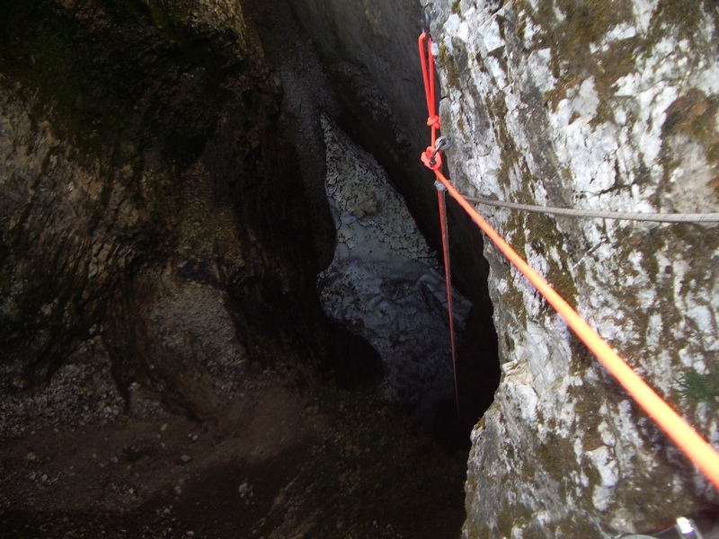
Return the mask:
M 322 312 L 279 83 L 239 4 L 0 20 L 6 392 L 41 391 L 77 350 L 128 407 L 140 386 L 200 419 L 252 366 L 361 378 L 352 358 L 377 357 Z

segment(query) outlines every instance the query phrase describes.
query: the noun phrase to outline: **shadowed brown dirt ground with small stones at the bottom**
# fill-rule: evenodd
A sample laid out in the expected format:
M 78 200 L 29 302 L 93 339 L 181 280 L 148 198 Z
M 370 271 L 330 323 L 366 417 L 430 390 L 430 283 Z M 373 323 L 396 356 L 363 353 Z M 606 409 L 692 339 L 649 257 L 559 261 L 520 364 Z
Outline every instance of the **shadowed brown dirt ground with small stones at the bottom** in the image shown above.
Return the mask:
M 29 400 L 23 423 L 5 397 L 0 536 L 459 535 L 466 453 L 386 402 L 279 380 L 253 377 L 205 424 L 150 398 L 110 418 L 81 402 L 39 419 L 52 399 Z

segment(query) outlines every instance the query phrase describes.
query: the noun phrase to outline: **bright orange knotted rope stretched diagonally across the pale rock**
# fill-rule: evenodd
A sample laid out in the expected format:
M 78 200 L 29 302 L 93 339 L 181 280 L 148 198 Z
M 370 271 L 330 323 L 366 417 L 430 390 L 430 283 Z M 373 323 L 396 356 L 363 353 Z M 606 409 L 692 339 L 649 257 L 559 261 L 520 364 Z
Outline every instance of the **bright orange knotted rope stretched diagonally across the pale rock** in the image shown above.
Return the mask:
M 439 129 L 439 117 L 435 113 L 434 102 L 434 60 L 431 54 L 431 37 L 430 37 L 430 14 L 425 7 L 425 24 L 422 35 L 419 39 L 420 60 L 422 63 L 422 77 L 424 81 L 424 91 L 427 99 L 427 108 L 429 111 L 429 119 L 427 125 L 431 127 L 431 146 L 422 153 L 421 159 L 432 172 L 434 172 L 437 181 L 443 185 L 449 195 L 457 200 L 457 203 L 478 225 L 484 234 L 492 240 L 494 245 L 502 252 L 502 254 L 511 262 L 514 267 L 519 270 L 522 275 L 528 278 L 529 282 L 537 288 L 537 291 L 545 297 L 547 303 L 552 305 L 556 312 L 562 316 L 564 322 L 574 331 L 577 337 L 587 346 L 588 349 L 599 359 L 599 362 L 607 368 L 609 373 L 617 379 L 619 384 L 626 389 L 626 392 L 637 402 L 644 411 L 656 422 L 656 424 L 669 436 L 679 449 L 684 452 L 688 458 L 697 465 L 699 470 L 706 475 L 706 478 L 712 482 L 717 490 L 719 490 L 719 453 L 714 447 L 710 446 L 706 440 L 697 434 L 687 421 L 674 411 L 669 404 L 664 402 L 661 397 L 652 390 L 652 388 L 638 376 L 635 371 L 629 367 L 624 359 L 620 358 L 617 352 L 609 347 L 607 342 L 599 337 L 599 334 L 592 330 L 590 325 L 586 323 L 579 314 L 569 305 L 562 296 L 557 294 L 554 288 L 542 278 L 536 270 L 522 259 L 522 257 L 511 248 L 496 230 L 484 220 L 476 209 L 467 200 L 459 194 L 452 184 L 440 172 L 442 160 L 440 151 L 443 149 L 441 138 L 436 137 L 436 130 Z M 426 43 L 427 55 L 425 57 L 424 44 Z M 443 211 L 440 202 L 440 212 Z M 442 214 L 444 215 L 444 214 Z M 448 252 L 445 250 L 445 256 L 448 258 Z M 448 278 L 448 260 L 445 261 L 445 276 Z M 448 284 L 448 305 L 451 309 L 451 284 Z M 452 314 L 449 314 L 450 321 Z M 450 322 L 450 331 L 452 325 Z M 452 337 L 454 339 L 454 336 Z M 453 359 L 454 361 L 454 359 Z M 456 369 L 455 369 L 456 371 Z M 456 372 L 455 372 L 456 376 Z M 455 382 L 455 392 L 457 392 L 457 383 Z M 457 400 L 458 402 L 458 400 Z

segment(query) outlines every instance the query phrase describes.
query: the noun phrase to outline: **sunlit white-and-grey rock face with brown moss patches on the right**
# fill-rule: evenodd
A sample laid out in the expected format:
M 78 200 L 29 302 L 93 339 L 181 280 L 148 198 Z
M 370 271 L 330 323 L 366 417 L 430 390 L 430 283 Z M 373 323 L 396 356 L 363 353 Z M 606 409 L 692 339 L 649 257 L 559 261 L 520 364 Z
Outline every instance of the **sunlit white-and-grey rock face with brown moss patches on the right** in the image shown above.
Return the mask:
M 436 4 L 441 116 L 456 139 L 448 163 L 459 190 L 563 208 L 719 209 L 715 4 Z M 701 402 L 678 384 L 719 369 L 716 225 L 480 209 L 719 446 L 715 396 Z M 473 433 L 466 537 L 611 536 L 715 503 L 714 488 L 528 281 L 493 245 L 485 255 L 502 383 Z

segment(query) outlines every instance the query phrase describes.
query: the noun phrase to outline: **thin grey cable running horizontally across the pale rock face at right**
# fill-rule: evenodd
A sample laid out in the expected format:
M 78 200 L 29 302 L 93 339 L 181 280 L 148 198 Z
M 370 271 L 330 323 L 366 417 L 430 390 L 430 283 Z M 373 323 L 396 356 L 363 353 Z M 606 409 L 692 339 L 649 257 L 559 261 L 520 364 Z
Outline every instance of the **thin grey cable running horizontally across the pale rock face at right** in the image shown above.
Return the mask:
M 655 223 L 719 223 L 719 213 L 643 213 L 626 211 L 593 211 L 590 209 L 550 208 L 532 204 L 519 204 L 518 202 L 504 202 L 502 200 L 481 199 L 467 197 L 465 199 L 475 204 L 497 206 L 499 208 L 521 209 L 535 213 L 553 214 L 558 216 L 589 217 L 597 219 L 623 219 L 627 221 L 652 221 Z

